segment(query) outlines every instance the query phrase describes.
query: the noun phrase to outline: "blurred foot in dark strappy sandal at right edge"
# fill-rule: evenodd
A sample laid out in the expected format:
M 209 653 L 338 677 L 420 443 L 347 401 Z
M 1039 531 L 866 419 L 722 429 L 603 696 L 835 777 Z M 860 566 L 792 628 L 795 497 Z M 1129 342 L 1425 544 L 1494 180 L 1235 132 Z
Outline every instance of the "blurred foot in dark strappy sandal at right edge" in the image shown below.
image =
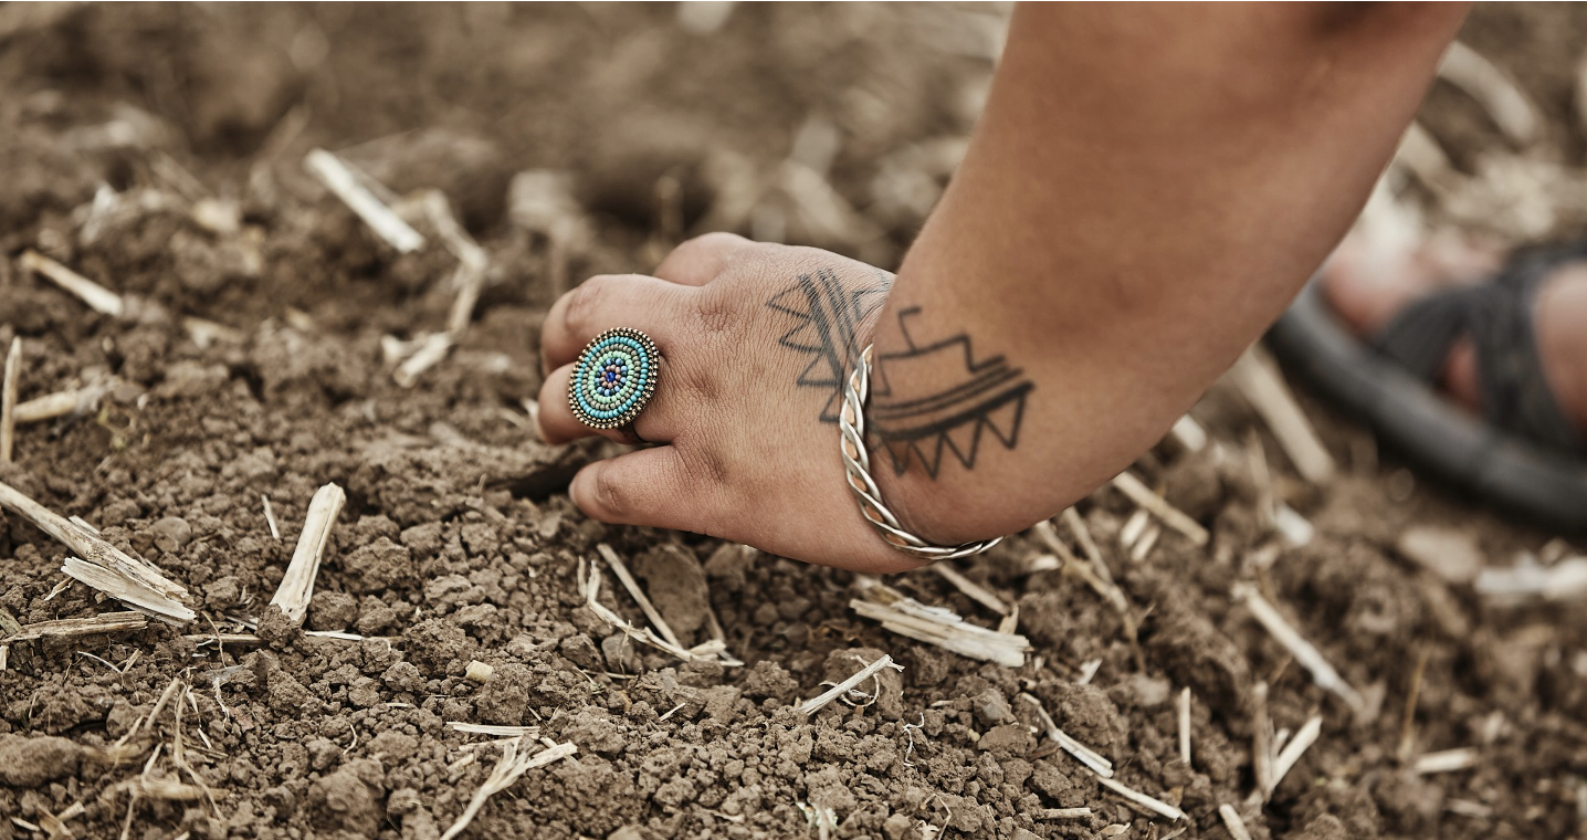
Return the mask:
M 1452 484 L 1587 529 L 1587 245 L 1444 232 L 1335 251 L 1273 329 L 1300 373 Z

